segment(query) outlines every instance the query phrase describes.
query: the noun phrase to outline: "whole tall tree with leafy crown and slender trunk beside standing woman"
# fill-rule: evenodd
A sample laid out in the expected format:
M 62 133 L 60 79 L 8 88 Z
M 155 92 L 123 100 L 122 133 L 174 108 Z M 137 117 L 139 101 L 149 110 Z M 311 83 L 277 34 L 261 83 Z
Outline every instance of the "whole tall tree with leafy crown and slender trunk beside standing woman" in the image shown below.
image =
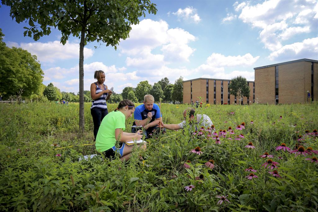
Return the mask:
M 146 12 L 156 14 L 156 4 L 150 0 L 2 0 L 10 6 L 10 16 L 21 23 L 27 21 L 24 36 L 38 40 L 51 33 L 51 27 L 61 31 L 61 43 L 73 35 L 79 44 L 79 129 L 84 132 L 84 46 L 97 41 L 117 48 L 120 39 L 129 36 L 132 24 Z

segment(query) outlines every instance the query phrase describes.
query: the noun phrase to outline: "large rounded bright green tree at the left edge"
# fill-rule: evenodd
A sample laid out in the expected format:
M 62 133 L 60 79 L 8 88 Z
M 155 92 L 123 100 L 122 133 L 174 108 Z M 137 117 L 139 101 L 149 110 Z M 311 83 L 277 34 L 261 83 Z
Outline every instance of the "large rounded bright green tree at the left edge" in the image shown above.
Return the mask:
M 0 29 L 0 93 L 4 98 L 38 93 L 42 84 L 43 71 L 35 55 L 21 48 L 9 48 L 2 41 L 4 34 Z

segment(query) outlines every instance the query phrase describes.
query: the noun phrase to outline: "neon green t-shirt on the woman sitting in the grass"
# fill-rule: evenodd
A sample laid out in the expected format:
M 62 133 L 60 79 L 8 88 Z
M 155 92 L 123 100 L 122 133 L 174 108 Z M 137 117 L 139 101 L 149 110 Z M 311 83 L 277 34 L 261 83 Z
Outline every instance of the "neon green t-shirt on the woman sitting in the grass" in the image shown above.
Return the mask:
M 126 117 L 120 111 L 108 113 L 100 124 L 96 136 L 95 147 L 99 152 L 104 152 L 115 146 L 115 129 L 121 128 L 125 130 Z

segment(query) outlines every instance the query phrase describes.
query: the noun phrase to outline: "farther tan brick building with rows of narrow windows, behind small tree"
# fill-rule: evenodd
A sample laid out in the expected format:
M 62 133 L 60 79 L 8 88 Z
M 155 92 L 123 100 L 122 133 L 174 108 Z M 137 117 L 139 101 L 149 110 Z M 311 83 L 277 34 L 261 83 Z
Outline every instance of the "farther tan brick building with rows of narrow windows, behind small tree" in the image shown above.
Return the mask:
M 191 100 L 199 101 L 198 97 L 202 97 L 202 101 L 210 104 L 239 104 L 239 99 L 230 95 L 228 85 L 229 79 L 209 79 L 198 78 L 183 81 L 183 103 L 191 104 Z M 254 82 L 247 81 L 250 86 L 250 96 L 243 97 L 243 104 L 253 102 L 254 100 Z

